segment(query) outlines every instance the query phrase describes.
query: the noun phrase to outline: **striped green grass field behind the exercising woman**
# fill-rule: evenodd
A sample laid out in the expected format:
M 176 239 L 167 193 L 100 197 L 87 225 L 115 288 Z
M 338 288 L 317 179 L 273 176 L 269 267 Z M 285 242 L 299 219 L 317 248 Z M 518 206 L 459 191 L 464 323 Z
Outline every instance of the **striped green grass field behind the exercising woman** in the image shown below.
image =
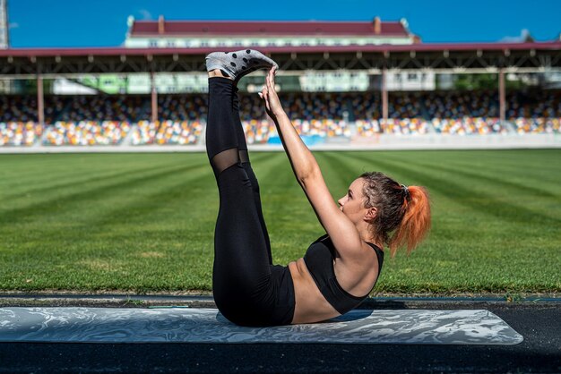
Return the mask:
M 323 234 L 284 153 L 253 153 L 275 263 Z M 427 186 L 433 229 L 374 293 L 561 291 L 561 150 L 315 152 L 335 199 L 364 171 Z M 0 290 L 209 292 L 203 153 L 0 155 Z

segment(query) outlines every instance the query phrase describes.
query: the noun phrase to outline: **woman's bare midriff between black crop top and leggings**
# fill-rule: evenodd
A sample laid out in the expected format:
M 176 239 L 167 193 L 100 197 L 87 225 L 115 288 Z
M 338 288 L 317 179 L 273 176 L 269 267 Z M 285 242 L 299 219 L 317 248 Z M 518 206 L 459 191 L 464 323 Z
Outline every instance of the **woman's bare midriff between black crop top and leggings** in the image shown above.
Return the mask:
M 304 259 L 290 262 L 289 270 L 296 299 L 292 324 L 319 322 L 341 314 L 325 300 L 307 270 Z

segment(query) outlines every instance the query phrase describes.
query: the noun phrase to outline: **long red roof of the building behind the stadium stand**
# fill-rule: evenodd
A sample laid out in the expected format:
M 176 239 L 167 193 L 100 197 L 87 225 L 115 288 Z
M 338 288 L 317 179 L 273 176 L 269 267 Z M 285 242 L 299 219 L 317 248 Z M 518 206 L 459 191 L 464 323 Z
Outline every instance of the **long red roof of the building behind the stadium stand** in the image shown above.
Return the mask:
M 160 22 L 163 28 L 160 31 Z M 399 21 L 134 21 L 131 37 L 178 35 L 380 35 L 409 37 Z

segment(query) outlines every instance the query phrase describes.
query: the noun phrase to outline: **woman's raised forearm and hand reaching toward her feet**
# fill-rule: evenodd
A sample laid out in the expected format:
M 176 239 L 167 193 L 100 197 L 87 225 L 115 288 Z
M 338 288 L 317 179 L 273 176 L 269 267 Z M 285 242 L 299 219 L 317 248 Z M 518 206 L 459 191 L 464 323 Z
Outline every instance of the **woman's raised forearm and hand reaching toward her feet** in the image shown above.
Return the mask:
M 307 149 L 306 144 L 300 139 L 298 132 L 296 132 L 296 129 L 294 129 L 290 122 L 289 116 L 280 106 L 279 97 L 274 89 L 273 69 L 267 74 L 265 87 L 259 95 L 265 100 L 267 114 L 275 123 L 282 146 L 289 157 L 292 170 L 298 179 L 298 183 L 302 184 L 311 175 L 319 172 L 319 166 L 312 152 Z

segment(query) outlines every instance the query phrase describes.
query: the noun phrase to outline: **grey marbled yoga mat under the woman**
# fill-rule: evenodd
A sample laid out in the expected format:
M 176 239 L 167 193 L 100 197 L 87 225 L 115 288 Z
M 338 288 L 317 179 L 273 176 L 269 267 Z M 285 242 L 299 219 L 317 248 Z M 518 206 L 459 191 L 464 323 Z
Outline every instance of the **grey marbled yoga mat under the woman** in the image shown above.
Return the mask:
M 488 310 L 351 310 L 322 323 L 238 327 L 215 309 L 0 308 L 1 342 L 519 344 Z

